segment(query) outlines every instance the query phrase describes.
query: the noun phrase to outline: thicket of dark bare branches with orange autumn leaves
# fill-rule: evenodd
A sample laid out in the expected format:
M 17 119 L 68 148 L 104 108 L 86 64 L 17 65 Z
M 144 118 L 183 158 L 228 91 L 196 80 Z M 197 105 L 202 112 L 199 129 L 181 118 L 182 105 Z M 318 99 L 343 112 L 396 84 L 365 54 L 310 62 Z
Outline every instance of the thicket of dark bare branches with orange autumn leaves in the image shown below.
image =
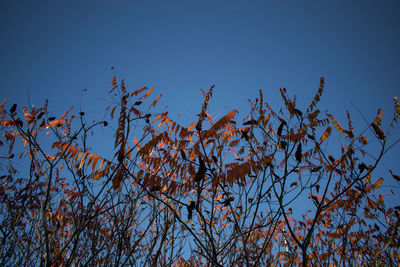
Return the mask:
M 260 91 L 245 117 L 214 120 L 211 87 L 188 127 L 115 78 L 110 124 L 4 100 L 0 265 L 399 265 L 398 196 L 374 175 L 399 102 L 388 125 L 379 109 L 354 129 L 318 108 L 323 90 L 301 110 L 281 89 L 280 112 Z M 113 157 L 87 145 L 100 128 Z

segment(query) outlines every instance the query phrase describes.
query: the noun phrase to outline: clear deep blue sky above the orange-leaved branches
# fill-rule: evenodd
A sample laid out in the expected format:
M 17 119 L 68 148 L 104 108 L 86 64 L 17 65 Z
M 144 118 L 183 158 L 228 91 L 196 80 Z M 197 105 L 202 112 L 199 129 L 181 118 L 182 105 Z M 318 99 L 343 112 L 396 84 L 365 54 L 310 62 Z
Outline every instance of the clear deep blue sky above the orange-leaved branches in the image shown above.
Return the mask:
M 324 76 L 321 109 L 345 124 L 348 108 L 364 129 L 355 107 L 369 121 L 379 107 L 389 118 L 400 96 L 399 14 L 399 1 L 2 0 L 1 98 L 48 98 L 57 114 L 74 105 L 102 119 L 114 66 L 188 125 L 200 88 L 216 85 L 211 115 L 238 108 L 242 118 L 259 89 L 275 108 L 280 87 L 306 107 Z M 398 152 L 385 159 L 395 173 Z

